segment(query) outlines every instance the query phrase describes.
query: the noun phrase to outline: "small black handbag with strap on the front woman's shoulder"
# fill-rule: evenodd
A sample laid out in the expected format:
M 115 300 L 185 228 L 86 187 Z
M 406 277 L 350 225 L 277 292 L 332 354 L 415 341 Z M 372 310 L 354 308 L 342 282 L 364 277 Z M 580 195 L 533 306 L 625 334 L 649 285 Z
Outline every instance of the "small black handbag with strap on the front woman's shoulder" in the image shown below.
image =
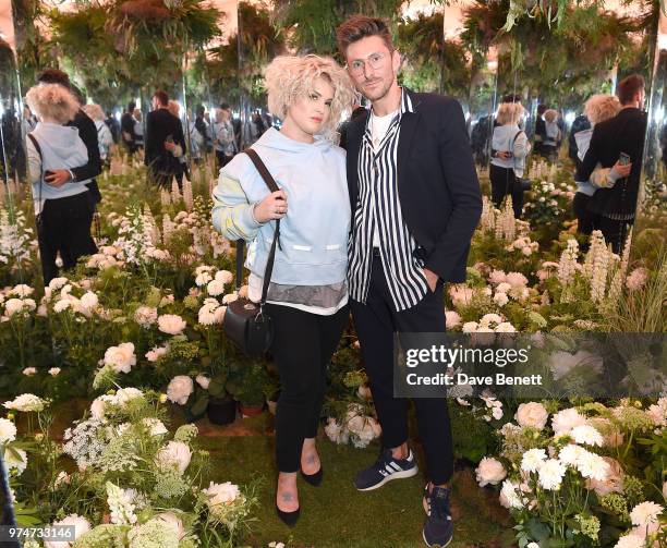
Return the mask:
M 257 153 L 252 148 L 247 148 L 244 153 L 257 168 L 257 171 L 264 179 L 264 182 L 271 192 L 280 188 L 274 181 L 266 166 L 257 156 Z M 266 296 L 268 293 L 271 272 L 274 270 L 274 259 L 276 257 L 276 245 L 280 247 L 278 242 L 280 238 L 280 219 L 276 219 L 276 230 L 274 231 L 274 241 L 266 263 L 266 271 L 264 272 L 264 283 L 262 287 L 262 300 L 259 303 L 253 303 L 246 297 L 239 297 L 230 303 L 225 313 L 222 321 L 222 330 L 229 339 L 248 356 L 257 356 L 267 352 L 274 342 L 274 321 L 266 313 Z M 237 242 L 237 293 L 241 289 L 241 280 L 243 278 L 243 249 L 245 242 L 239 240 Z

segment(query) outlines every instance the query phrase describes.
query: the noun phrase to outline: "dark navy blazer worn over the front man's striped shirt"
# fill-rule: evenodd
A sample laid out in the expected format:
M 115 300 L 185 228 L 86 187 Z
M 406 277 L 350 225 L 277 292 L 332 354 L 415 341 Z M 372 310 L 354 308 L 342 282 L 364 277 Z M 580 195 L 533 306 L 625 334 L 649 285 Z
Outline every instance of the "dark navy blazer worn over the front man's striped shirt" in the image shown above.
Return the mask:
M 470 242 L 482 215 L 482 192 L 459 102 L 407 90 L 414 112 L 401 120 L 397 180 L 415 255 L 442 281 L 465 281 Z M 357 163 L 369 113 L 348 127 L 348 186 L 359 207 Z

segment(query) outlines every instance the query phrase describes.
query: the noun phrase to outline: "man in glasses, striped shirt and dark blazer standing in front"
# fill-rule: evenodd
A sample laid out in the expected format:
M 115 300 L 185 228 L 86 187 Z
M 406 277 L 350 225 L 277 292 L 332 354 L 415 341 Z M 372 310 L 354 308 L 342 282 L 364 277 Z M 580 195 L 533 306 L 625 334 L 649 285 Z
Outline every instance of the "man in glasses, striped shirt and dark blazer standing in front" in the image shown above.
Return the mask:
M 460 105 L 401 88 L 401 63 L 384 21 L 356 15 L 337 31 L 356 89 L 371 111 L 348 129 L 352 207 L 348 282 L 354 325 L 383 427 L 383 451 L 359 490 L 417 473 L 408 447 L 408 401 L 393 397 L 393 336 L 445 331 L 444 284 L 465 280 L 482 196 Z M 451 428 L 445 399 L 415 399 L 430 482 L 428 546 L 453 536 Z

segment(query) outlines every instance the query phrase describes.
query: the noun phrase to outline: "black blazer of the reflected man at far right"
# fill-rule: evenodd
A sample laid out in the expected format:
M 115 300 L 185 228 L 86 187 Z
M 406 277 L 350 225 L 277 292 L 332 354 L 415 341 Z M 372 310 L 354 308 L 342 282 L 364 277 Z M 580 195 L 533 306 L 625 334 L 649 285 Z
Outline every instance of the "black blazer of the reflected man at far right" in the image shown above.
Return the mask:
M 587 181 L 597 163 L 603 168 L 613 167 L 621 153 L 630 155 L 632 170 L 630 176 L 617 181 L 613 188 L 597 190 L 589 200 L 590 211 L 598 215 L 634 214 L 645 135 L 646 114 L 635 108 L 623 109 L 610 120 L 595 124 L 586 156 L 577 170 L 577 181 Z

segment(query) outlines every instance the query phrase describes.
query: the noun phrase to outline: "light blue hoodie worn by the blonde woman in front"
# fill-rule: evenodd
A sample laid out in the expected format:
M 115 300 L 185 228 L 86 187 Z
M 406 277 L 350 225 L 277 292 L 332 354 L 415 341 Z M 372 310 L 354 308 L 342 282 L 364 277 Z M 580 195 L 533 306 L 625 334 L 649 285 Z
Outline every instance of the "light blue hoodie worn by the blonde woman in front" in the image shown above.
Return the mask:
M 328 285 L 345 279 L 350 199 L 345 153 L 323 137 L 306 144 L 274 127 L 253 145 L 276 183 L 287 194 L 288 214 L 280 221 L 280 244 L 271 282 Z M 275 222 L 257 223 L 255 203 L 270 194 L 245 154 L 220 170 L 214 190 L 213 223 L 226 238 L 252 241 L 246 268 L 264 277 Z

